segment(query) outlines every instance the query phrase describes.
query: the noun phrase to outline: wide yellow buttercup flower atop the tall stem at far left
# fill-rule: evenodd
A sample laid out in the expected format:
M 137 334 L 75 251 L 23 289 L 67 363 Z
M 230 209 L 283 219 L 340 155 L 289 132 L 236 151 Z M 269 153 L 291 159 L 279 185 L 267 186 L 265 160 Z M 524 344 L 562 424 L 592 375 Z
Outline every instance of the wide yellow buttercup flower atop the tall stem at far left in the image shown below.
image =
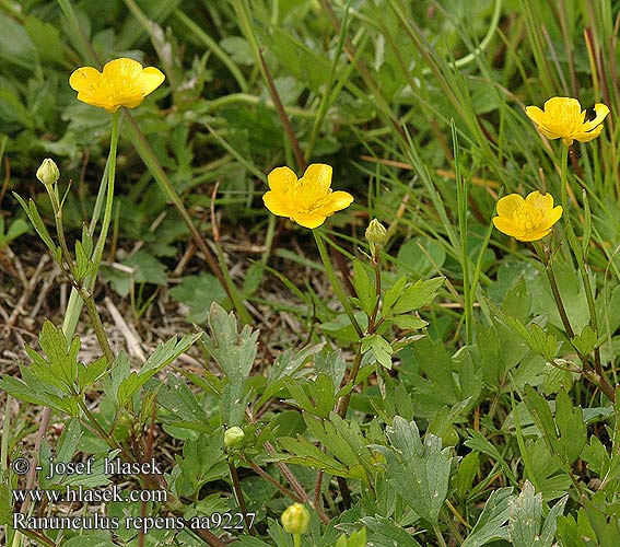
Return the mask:
M 78 92 L 78 100 L 115 113 L 120 106 L 136 108 L 155 91 L 165 75 L 155 67 L 143 68 L 133 59 L 120 58 L 106 63 L 103 72 L 93 67 L 75 70 L 69 85 Z

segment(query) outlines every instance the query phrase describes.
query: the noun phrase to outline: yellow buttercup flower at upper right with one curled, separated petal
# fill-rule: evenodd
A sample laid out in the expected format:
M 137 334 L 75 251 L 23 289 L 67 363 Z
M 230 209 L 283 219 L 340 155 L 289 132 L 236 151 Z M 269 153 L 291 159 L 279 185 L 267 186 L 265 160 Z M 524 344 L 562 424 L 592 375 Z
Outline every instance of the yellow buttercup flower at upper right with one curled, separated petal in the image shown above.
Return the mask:
M 586 120 L 586 110 L 580 102 L 570 97 L 553 97 L 545 103 L 545 110 L 538 106 L 527 106 L 525 113 L 536 124 L 538 130 L 548 139 L 562 139 L 570 147 L 573 140 L 588 142 L 603 131 L 603 120 L 609 108 L 603 103 L 594 105 L 594 119 Z

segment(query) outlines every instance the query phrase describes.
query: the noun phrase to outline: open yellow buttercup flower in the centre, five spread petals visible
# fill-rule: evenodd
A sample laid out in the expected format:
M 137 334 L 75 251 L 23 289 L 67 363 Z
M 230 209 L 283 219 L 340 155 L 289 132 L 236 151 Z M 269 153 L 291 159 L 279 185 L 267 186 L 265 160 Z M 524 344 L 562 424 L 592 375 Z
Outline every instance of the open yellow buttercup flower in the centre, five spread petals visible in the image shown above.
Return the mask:
M 289 167 L 274 168 L 267 179 L 270 190 L 262 196 L 267 209 L 305 228 L 320 226 L 327 217 L 353 202 L 351 194 L 331 191 L 331 167 L 324 163 L 309 165 L 300 179 Z

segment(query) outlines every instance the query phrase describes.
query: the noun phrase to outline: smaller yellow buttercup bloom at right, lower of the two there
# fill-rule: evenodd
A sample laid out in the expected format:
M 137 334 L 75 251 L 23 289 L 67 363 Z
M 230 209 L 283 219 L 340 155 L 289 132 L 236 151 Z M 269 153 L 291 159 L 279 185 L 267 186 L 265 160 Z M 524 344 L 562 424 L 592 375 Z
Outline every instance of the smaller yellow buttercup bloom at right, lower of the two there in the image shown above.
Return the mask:
M 538 241 L 551 231 L 561 216 L 562 207 L 553 207 L 553 196 L 536 190 L 525 199 L 518 194 L 500 199 L 493 224 L 518 241 Z

